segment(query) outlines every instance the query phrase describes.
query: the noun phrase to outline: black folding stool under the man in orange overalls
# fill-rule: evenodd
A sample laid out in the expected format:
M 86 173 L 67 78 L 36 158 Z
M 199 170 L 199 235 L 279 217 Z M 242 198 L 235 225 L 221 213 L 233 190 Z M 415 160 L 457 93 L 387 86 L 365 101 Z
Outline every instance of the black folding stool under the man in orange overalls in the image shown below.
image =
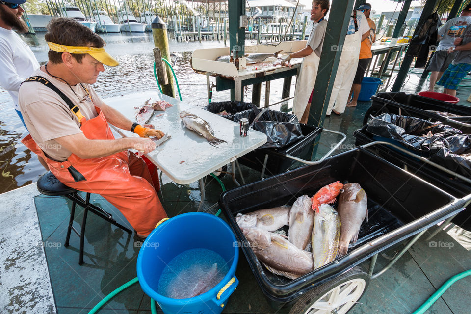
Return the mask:
M 127 233 L 131 233 L 130 229 L 116 222 L 116 220 L 113 219 L 113 216 L 110 213 L 106 212 L 105 210 L 101 209 L 100 207 L 94 204 L 91 204 L 90 193 L 87 193 L 86 198 L 84 200 L 80 195 L 78 195 L 78 190 L 62 184 L 52 174 L 51 171 L 48 171 L 46 174 L 42 175 L 36 184 L 38 187 L 38 191 L 41 194 L 49 195 L 49 196 L 63 195 L 72 201 L 72 210 L 70 212 L 69 227 L 67 228 L 67 236 L 65 238 L 64 246 L 66 247 L 69 246 L 70 232 L 71 230 L 74 230 L 74 232 L 78 236 L 80 236 L 80 250 L 79 250 L 80 254 L 79 254 L 79 259 L 78 259 L 79 265 L 83 264 L 83 239 L 85 238 L 85 224 L 87 222 L 88 211 L 91 211 L 97 216 L 102 217 L 106 221 L 110 222 L 116 227 L 121 228 Z M 82 227 L 80 228 L 80 232 L 78 232 L 77 229 L 75 229 L 74 226 L 72 226 L 72 223 L 74 222 L 76 204 L 84 208 Z

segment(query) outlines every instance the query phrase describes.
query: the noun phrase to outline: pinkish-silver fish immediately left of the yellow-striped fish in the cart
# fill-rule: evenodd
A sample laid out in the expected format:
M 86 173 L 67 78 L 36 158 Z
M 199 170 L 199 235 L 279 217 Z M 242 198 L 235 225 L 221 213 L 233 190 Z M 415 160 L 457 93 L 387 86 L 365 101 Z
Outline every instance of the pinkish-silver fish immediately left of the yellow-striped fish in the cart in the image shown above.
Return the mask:
M 298 197 L 289 211 L 288 241 L 304 250 L 311 242 L 314 226 L 313 203 L 307 195 Z

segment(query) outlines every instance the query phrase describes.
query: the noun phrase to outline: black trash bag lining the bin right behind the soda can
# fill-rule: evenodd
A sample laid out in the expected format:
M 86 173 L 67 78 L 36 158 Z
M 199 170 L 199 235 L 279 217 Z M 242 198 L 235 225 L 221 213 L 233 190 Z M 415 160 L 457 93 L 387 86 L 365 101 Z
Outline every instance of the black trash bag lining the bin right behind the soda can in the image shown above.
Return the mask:
M 259 112 L 260 109 L 254 106 L 250 110 L 236 113 L 234 121 L 239 122 L 240 119 L 247 118 L 249 124 L 252 124 Z M 283 148 L 304 138 L 298 118 L 294 114 L 276 110 L 263 113 L 252 129 L 266 134 L 267 141 L 260 148 Z

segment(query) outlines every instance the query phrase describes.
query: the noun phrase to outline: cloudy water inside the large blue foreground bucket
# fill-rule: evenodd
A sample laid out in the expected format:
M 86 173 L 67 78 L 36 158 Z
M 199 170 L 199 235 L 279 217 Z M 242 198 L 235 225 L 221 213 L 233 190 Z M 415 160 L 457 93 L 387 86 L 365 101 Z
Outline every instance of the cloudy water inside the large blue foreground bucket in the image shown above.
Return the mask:
M 157 293 L 172 299 L 191 298 L 216 286 L 228 271 L 229 265 L 216 252 L 187 250 L 165 266 Z

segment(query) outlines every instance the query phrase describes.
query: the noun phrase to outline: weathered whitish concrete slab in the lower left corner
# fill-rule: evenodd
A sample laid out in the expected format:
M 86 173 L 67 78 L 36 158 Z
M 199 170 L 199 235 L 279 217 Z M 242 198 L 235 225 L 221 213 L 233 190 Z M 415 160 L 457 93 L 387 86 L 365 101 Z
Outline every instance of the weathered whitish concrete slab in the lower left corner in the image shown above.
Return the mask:
M 0 195 L 0 313 L 57 313 L 33 197 L 36 184 Z

